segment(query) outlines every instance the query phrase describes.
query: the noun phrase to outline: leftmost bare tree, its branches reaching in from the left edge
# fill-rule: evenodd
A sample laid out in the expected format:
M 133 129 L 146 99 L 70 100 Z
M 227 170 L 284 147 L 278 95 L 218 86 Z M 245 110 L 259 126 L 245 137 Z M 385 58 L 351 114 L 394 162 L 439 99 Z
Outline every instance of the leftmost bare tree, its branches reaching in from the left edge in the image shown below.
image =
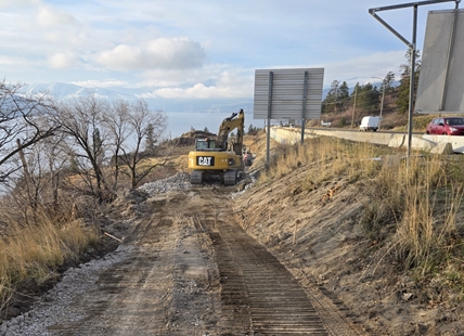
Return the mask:
M 0 182 L 22 168 L 13 164 L 17 154 L 55 134 L 60 128 L 49 118 L 54 106 L 47 94 L 25 96 L 22 87 L 0 82 Z

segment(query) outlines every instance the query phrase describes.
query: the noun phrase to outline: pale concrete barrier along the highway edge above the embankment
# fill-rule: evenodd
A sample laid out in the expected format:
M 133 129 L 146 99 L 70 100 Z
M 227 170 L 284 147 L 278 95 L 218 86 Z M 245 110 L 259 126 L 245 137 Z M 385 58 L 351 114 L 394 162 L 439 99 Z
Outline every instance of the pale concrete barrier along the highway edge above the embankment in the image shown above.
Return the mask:
M 356 142 L 369 142 L 389 147 L 407 147 L 408 135 L 395 132 L 360 132 L 339 129 L 306 129 L 305 139 L 318 135 L 339 138 Z M 301 141 L 299 128 L 271 127 L 270 137 L 281 143 L 295 144 Z M 464 137 L 453 135 L 413 135 L 411 148 L 436 154 L 464 153 Z

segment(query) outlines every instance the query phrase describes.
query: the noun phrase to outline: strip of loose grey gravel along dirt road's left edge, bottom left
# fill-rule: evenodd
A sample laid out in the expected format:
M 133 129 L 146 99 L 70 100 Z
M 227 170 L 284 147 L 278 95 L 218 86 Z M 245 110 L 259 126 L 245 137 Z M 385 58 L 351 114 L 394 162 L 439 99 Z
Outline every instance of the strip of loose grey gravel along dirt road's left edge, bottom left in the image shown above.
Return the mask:
M 60 283 L 47 293 L 31 309 L 0 325 L 0 336 L 53 335 L 47 328 L 62 321 L 79 321 L 83 312 L 73 310 L 73 300 L 80 294 L 96 289 L 99 274 L 130 256 L 133 246 L 120 245 L 102 259 L 92 260 L 67 270 Z

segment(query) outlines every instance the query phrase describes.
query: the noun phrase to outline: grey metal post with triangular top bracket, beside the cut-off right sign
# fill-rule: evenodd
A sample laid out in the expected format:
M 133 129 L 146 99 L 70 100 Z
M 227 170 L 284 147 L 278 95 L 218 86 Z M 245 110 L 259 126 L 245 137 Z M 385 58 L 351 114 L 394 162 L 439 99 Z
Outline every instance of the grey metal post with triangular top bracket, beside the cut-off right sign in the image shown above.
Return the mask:
M 436 4 L 442 2 L 455 2 L 455 10 L 457 10 L 459 3 L 461 0 L 431 0 L 431 1 L 420 1 L 420 2 L 411 2 L 403 4 L 395 4 L 382 8 L 370 9 L 369 13 L 374 16 L 382 25 L 384 25 L 388 30 L 390 30 L 396 37 L 398 37 L 403 43 L 405 43 L 411 53 L 411 69 L 410 69 L 410 78 L 415 78 L 415 55 L 417 52 L 416 49 L 416 40 L 417 40 L 417 11 L 420 5 L 426 4 Z M 376 12 L 382 11 L 390 11 L 398 10 L 404 8 L 413 8 L 413 21 L 412 21 L 412 41 L 408 41 L 401 34 L 395 30 L 390 25 L 388 25 L 381 16 L 376 14 Z M 414 109 L 414 80 L 410 80 L 410 91 L 409 91 L 409 114 L 408 114 L 408 164 L 411 156 L 411 144 L 412 144 L 412 116 Z

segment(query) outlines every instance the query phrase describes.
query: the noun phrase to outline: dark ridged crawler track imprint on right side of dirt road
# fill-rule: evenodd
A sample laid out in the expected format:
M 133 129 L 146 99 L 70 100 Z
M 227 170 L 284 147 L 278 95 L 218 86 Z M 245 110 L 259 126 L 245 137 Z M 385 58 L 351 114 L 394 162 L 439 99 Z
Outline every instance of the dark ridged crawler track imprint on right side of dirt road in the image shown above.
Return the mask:
M 218 197 L 211 193 L 207 198 Z M 340 321 L 326 328 L 300 284 L 234 222 L 230 207 L 218 208 L 221 204 L 228 203 L 216 202 L 209 214 L 197 216 L 215 247 L 222 335 L 357 335 Z M 338 325 L 334 328 L 334 324 Z M 334 329 L 346 331 L 334 334 Z

